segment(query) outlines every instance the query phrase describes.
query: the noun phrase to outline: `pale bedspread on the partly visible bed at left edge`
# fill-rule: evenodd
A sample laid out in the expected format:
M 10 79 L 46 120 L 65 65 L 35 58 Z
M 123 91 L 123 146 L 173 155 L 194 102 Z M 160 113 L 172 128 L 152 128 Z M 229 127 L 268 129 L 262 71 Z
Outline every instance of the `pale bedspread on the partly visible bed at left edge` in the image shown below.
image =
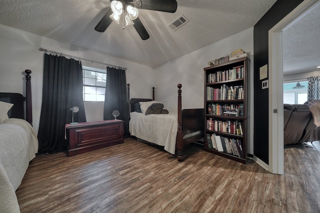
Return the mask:
M 4 212 L 19 209 L 15 190 L 37 150 L 38 140 L 28 122 L 10 118 L 0 124 L 0 209 Z

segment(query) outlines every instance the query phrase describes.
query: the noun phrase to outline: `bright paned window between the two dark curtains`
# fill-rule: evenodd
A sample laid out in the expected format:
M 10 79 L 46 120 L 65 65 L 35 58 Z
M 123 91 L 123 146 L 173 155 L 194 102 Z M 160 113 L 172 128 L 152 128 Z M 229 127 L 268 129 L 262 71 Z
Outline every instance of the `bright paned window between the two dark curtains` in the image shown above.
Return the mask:
M 83 101 L 104 101 L 106 70 L 82 66 Z

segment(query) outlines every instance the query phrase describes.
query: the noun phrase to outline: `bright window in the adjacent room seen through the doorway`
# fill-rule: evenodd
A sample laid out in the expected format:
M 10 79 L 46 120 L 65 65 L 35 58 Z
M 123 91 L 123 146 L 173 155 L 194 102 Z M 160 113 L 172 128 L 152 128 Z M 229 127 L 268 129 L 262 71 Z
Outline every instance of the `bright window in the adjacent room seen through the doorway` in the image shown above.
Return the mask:
M 299 83 L 299 84 L 297 84 Z M 300 85 L 300 86 L 297 86 Z M 303 104 L 307 101 L 308 82 L 283 83 L 283 103 Z

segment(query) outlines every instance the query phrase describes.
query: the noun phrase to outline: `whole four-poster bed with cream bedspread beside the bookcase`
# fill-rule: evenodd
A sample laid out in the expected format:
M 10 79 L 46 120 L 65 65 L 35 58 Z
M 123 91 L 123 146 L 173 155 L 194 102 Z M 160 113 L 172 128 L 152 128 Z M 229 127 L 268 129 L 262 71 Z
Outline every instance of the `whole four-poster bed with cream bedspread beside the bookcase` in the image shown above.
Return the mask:
M 129 132 L 131 136 L 135 136 L 137 139 L 163 146 L 165 151 L 173 155 L 177 154 L 177 160 L 182 161 L 183 147 L 203 138 L 204 110 L 203 108 L 181 110 L 182 86 L 178 84 L 177 87 L 177 113 L 169 112 L 168 114 L 163 114 L 165 113 L 164 111 L 163 113 L 160 112 L 160 114 L 151 113 L 145 115 L 145 112 L 137 112 L 138 110 L 135 109 L 134 106 L 137 106 L 137 103 L 143 103 L 144 107 L 148 106 L 150 109 L 152 103 L 156 104 L 156 101 L 154 101 L 154 87 L 152 90 L 152 99 L 130 99 L 128 84 L 127 94 L 130 105 Z M 153 111 L 151 110 L 151 112 Z

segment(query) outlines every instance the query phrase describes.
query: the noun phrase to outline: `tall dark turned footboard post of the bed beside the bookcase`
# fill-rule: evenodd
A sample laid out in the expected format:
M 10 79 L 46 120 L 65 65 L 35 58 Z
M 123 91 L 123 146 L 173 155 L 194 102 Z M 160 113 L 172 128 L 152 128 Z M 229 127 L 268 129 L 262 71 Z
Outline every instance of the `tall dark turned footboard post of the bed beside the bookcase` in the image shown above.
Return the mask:
M 183 135 L 182 135 L 182 110 L 181 110 L 181 84 L 178 84 L 178 132 L 176 134 L 177 160 L 182 161 Z

